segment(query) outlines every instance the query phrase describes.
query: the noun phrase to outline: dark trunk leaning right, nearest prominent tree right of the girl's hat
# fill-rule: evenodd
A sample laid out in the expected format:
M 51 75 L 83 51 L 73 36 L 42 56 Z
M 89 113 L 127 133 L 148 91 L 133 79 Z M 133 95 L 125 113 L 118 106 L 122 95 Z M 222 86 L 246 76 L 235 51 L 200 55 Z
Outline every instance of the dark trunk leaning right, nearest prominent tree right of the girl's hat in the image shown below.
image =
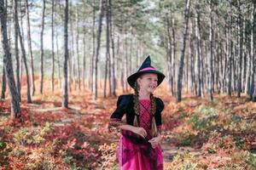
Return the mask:
M 189 23 L 189 8 L 190 8 L 190 0 L 186 0 L 186 6 L 184 9 L 184 22 L 183 22 L 183 47 L 181 51 L 180 63 L 178 67 L 177 73 L 177 102 L 180 102 L 182 99 L 182 79 L 183 79 L 183 61 L 185 56 L 186 49 L 186 39 L 188 34 L 188 23 Z

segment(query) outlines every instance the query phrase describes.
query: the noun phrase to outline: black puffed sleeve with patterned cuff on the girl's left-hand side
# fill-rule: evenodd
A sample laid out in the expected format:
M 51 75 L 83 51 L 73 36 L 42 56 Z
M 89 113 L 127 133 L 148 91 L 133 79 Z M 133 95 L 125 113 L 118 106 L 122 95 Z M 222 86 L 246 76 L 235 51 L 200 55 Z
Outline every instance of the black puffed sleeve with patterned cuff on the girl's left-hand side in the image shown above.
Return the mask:
M 122 117 L 125 115 L 127 107 L 127 99 L 124 95 L 120 95 L 117 101 L 116 110 L 113 111 L 112 115 L 110 116 L 109 126 L 118 127 L 119 125 L 123 124 Z

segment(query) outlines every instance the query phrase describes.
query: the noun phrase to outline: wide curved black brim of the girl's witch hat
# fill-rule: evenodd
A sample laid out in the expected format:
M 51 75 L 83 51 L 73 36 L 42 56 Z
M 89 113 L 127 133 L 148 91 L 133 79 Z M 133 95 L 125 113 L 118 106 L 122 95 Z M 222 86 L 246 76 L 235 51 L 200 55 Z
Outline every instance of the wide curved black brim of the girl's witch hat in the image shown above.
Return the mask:
M 130 77 L 127 78 L 127 82 L 129 83 L 129 85 L 131 86 L 131 88 L 134 88 L 134 85 L 135 85 L 135 82 L 137 81 L 137 78 L 142 76 L 143 74 L 145 73 L 154 73 L 157 75 L 158 77 L 158 81 L 157 81 L 157 86 L 160 85 L 161 82 L 163 82 L 163 80 L 165 79 L 165 75 L 163 73 L 161 73 L 160 71 L 154 71 L 154 70 L 151 70 L 151 71 L 139 71 L 139 72 L 136 72 L 134 74 L 132 74 Z

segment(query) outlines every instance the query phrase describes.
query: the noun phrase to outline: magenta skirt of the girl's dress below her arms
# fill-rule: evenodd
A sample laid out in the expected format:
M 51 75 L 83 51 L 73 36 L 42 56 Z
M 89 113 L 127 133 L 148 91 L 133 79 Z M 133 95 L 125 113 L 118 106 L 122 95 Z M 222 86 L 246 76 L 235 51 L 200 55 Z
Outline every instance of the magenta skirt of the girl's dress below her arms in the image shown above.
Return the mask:
M 120 170 L 163 170 L 160 144 L 152 148 L 148 139 L 123 130 L 117 148 Z

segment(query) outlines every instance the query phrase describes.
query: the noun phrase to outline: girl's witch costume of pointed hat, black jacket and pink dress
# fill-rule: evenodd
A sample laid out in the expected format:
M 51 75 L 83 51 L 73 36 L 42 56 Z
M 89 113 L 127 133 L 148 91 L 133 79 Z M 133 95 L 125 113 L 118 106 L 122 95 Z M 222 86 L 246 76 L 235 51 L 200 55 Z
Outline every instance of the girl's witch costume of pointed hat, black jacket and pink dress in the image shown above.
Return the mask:
M 137 78 L 145 73 L 154 73 L 158 77 L 158 85 L 164 80 L 165 75 L 151 66 L 151 60 L 148 56 L 143 61 L 143 65 L 139 70 L 127 78 L 127 82 L 131 88 L 135 88 Z M 164 103 L 160 98 L 154 98 L 155 111 L 150 112 L 152 107 L 150 99 L 139 99 L 139 113 L 134 110 L 134 94 L 120 95 L 117 101 L 117 108 L 110 116 L 110 127 L 119 127 L 120 125 L 128 124 L 131 126 L 143 127 L 147 136 L 145 139 L 132 133 L 131 131 L 121 129 L 119 146 L 117 148 L 117 159 L 121 170 L 162 170 L 163 156 L 158 144 L 152 148 L 148 142 L 160 133 L 161 128 L 161 111 L 164 109 Z M 122 117 L 126 116 L 126 121 L 122 122 Z M 136 124 L 136 125 L 135 125 Z M 153 133 L 152 128 L 157 130 Z

